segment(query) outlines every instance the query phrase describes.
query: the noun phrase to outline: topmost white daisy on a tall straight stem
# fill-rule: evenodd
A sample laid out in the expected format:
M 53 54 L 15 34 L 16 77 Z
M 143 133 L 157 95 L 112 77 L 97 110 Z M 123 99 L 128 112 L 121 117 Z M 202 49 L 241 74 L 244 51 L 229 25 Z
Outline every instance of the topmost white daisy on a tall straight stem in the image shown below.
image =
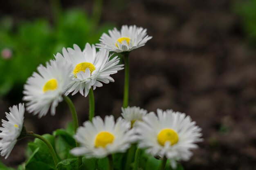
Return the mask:
M 121 31 L 114 28 L 113 30 L 109 30 L 108 33 L 109 35 L 106 33 L 101 35 L 100 44 L 96 44 L 96 47 L 104 47 L 117 53 L 137 49 L 144 46 L 152 38 L 147 35 L 147 29 L 135 25 L 123 25 Z

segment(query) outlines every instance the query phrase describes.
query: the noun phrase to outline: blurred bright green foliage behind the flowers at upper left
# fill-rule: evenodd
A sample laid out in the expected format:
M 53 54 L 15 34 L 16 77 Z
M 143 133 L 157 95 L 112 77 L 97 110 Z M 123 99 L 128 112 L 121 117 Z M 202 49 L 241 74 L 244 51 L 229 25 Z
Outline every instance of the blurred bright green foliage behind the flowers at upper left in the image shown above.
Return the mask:
M 0 54 L 0 96 L 7 95 L 13 88 L 22 91 L 26 79 L 36 67 L 54 58 L 63 47 L 86 42 L 96 43 L 110 25 L 97 27 L 86 13 L 76 9 L 66 11 L 52 26 L 46 19 L 20 22 L 13 25 L 12 18 L 0 20 L 0 51 L 9 49 L 12 56 L 4 59 Z M 13 31 L 15 30 L 15 31 Z

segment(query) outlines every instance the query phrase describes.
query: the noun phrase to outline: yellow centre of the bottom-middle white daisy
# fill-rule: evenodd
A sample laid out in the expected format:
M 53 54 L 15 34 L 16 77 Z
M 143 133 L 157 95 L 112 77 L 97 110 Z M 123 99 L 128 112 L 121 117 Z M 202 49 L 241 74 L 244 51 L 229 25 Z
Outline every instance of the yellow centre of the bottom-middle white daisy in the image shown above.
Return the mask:
M 99 134 L 95 139 L 95 148 L 98 148 L 98 147 L 105 148 L 106 145 L 112 144 L 114 139 L 115 139 L 115 136 L 110 132 L 106 132 L 106 131 L 99 132 Z

